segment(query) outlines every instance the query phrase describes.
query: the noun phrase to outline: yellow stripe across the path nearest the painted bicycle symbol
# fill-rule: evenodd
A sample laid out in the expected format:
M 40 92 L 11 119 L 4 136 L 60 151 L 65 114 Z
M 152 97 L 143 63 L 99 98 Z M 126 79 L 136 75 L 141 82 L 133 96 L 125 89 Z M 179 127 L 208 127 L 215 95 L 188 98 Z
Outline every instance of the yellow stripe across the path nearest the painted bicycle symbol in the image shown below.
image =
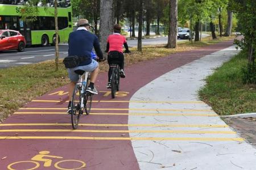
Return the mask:
M 237 141 L 242 138 L 154 138 L 154 137 L 0 137 L 0 139 L 86 139 L 86 140 L 134 140 L 134 141 Z

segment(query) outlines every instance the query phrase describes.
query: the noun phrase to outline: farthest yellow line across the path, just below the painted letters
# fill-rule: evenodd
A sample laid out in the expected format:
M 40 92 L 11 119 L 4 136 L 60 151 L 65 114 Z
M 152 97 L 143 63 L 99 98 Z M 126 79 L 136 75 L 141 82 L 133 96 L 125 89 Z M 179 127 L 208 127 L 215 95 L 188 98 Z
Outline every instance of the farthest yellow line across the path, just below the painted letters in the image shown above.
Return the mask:
M 61 100 L 32 100 L 32 102 L 60 102 Z M 65 101 L 68 102 L 68 101 Z M 145 100 L 93 100 L 101 103 L 177 103 L 177 104 L 204 104 L 203 101 L 145 101 Z

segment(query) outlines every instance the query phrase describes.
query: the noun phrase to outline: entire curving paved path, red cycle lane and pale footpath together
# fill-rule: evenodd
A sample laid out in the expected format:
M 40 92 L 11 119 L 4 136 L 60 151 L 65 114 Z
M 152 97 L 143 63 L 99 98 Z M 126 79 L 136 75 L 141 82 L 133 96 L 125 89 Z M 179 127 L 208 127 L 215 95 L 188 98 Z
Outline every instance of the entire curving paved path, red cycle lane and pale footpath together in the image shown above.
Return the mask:
M 238 51 L 233 41 L 125 67 L 115 99 L 98 75 L 92 112 L 72 130 L 67 86 L 0 124 L 0 170 L 255 169 L 256 150 L 197 97 Z

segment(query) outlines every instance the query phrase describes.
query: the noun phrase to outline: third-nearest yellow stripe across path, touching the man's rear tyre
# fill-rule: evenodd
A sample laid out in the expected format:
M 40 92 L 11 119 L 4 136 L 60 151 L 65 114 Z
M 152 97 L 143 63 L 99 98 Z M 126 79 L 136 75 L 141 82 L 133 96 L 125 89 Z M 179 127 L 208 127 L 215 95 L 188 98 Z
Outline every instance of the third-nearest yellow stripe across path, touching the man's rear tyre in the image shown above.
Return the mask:
M 189 127 L 189 128 L 227 128 L 228 125 L 182 125 L 182 124 L 79 124 L 80 126 L 151 126 L 151 127 Z M 0 124 L 0 126 L 71 126 L 71 124 Z

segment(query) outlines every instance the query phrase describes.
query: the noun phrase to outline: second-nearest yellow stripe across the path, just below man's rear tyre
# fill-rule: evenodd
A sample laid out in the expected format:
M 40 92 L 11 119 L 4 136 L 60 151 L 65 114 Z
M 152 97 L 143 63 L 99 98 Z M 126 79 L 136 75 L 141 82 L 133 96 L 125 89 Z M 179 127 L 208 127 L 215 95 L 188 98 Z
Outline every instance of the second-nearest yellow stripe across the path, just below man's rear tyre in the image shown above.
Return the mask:
M 72 130 L 72 129 L 5 129 L 0 132 L 91 132 L 91 133 L 191 133 L 191 134 L 236 134 L 235 131 L 201 130 Z

